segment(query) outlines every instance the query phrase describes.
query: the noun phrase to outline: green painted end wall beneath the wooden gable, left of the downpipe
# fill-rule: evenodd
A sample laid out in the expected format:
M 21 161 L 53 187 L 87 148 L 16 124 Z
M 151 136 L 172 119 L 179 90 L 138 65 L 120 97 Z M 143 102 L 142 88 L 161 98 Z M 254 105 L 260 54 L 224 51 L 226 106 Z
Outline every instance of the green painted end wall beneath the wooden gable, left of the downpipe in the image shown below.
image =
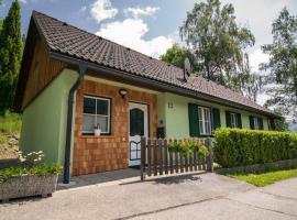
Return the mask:
M 64 69 L 23 111 L 20 148 L 43 151 L 44 161 L 64 163 L 67 100 L 77 73 Z

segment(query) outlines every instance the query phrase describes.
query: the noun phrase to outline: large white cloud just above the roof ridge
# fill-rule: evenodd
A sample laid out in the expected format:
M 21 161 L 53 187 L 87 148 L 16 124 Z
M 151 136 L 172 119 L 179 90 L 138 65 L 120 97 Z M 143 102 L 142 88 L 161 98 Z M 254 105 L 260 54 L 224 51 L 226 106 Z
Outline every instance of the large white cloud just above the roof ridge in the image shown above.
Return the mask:
M 143 20 L 125 19 L 103 25 L 96 34 L 158 58 L 173 45 L 173 40 L 169 36 L 157 36 L 146 41 L 143 37 L 147 32 L 148 26 Z

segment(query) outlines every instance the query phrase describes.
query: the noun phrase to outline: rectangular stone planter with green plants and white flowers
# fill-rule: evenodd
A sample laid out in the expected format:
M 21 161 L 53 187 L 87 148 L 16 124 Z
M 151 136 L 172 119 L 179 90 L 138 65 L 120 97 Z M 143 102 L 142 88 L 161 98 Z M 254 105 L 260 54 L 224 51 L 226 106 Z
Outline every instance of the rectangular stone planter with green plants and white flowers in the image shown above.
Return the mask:
M 43 156 L 42 152 L 25 156 L 19 152 L 20 164 L 0 170 L 0 201 L 38 195 L 47 197 L 56 190 L 62 167 L 41 163 Z

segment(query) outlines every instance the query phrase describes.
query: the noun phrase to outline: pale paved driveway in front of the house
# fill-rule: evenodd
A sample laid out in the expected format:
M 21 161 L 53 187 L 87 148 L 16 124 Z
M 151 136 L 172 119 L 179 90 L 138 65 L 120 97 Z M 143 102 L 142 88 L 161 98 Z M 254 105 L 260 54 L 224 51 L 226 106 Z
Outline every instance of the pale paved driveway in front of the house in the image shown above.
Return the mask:
M 0 219 L 297 219 L 296 187 L 293 179 L 256 189 L 216 174 L 125 180 L 3 204 Z

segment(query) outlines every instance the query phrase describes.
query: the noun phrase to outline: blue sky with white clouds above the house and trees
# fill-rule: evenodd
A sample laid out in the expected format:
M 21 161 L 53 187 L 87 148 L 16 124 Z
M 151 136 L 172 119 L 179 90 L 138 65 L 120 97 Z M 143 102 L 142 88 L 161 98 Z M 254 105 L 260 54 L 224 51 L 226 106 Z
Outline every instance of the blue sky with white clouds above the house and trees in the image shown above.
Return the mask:
M 182 43 L 178 30 L 187 12 L 201 0 L 19 0 L 22 10 L 22 32 L 26 34 L 32 10 L 66 21 L 153 57 L 160 57 L 174 43 Z M 11 0 L 0 7 L 4 18 Z M 261 45 L 272 43 L 272 22 L 287 7 L 297 14 L 297 0 L 221 0 L 232 3 L 237 21 L 255 36 L 249 50 L 253 72 L 268 59 Z M 267 96 L 261 95 L 263 105 Z

